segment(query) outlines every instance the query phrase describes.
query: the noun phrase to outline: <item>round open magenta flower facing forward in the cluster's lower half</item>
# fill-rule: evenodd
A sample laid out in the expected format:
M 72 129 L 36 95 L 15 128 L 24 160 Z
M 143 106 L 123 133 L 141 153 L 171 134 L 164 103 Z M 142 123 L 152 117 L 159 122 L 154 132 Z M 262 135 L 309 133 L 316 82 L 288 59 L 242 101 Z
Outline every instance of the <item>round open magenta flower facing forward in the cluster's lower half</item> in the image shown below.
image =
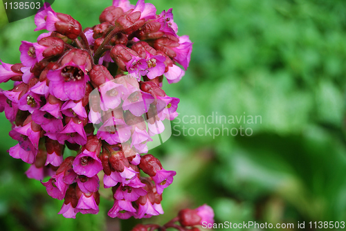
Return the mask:
M 73 171 L 78 175 L 93 177 L 102 170 L 101 160 L 97 154 L 84 149 L 73 161 Z

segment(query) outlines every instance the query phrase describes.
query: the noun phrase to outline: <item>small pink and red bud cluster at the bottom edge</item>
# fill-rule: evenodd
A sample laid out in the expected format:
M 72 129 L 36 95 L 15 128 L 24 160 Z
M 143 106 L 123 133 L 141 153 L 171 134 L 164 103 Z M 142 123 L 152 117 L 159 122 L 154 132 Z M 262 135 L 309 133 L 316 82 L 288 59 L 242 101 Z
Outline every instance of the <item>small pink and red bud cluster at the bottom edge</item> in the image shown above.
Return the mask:
M 177 224 L 179 222 L 179 224 Z M 210 228 L 214 224 L 214 211 L 209 205 L 202 205 L 194 210 L 180 210 L 178 216 L 165 223 L 165 225 L 156 224 L 138 224 L 131 231 L 165 231 L 170 228 L 179 231 L 199 231 L 197 226 Z

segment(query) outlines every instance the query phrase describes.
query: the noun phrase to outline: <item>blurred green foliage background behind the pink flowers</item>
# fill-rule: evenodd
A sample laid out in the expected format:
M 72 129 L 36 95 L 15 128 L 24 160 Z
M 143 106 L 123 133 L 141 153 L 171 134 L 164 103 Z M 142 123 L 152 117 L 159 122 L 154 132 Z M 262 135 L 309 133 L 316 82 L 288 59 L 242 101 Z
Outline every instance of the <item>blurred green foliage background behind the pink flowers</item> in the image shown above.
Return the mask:
M 170 140 L 151 151 L 176 170 L 163 193 L 165 214 L 138 221 L 58 215 L 62 201 L 26 178 L 11 158 L 10 123 L 0 114 L 0 230 L 131 230 L 165 223 L 184 207 L 208 203 L 215 221 L 296 223 L 346 220 L 346 3 L 343 0 L 151 0 L 173 8 L 179 35 L 194 42 L 183 80 L 168 85 L 181 99 Z M 136 3 L 131 1 L 131 3 Z M 83 27 L 98 24 L 111 0 L 56 0 L 53 9 Z M 34 17 L 8 24 L 0 6 L 0 58 L 19 62 L 21 40 L 35 41 Z M 10 84 L 1 84 L 10 89 Z M 193 116 L 260 115 L 262 123 L 194 124 Z M 185 116 L 183 123 L 182 118 Z M 251 128 L 252 136 L 190 136 L 205 126 Z M 185 134 L 183 136 L 183 126 Z M 190 129 L 190 130 L 188 130 Z M 178 131 L 181 132 L 180 136 Z M 203 130 L 204 131 L 204 130 Z M 219 229 L 223 230 L 223 229 Z M 226 229 L 224 229 L 226 230 Z M 296 230 L 296 228 L 294 229 Z

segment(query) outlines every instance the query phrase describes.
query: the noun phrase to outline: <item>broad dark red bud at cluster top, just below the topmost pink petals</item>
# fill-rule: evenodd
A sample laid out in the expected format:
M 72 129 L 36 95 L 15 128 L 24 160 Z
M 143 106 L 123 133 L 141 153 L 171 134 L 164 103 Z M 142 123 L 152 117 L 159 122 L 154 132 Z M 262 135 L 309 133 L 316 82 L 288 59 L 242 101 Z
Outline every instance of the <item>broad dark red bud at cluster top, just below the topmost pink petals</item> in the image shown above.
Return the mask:
M 134 33 L 145 24 L 145 19 L 140 19 L 140 11 L 129 10 L 116 19 L 116 27 L 127 35 Z

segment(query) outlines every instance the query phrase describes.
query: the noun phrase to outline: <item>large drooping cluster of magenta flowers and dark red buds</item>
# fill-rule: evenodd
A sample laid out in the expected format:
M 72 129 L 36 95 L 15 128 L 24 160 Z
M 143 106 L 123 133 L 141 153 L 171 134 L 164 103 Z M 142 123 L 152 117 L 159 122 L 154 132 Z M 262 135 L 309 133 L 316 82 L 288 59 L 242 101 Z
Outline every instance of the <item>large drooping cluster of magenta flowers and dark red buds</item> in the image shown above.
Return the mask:
M 192 51 L 189 37 L 176 34 L 172 9 L 156 15 L 144 0 L 113 0 L 100 24 L 82 30 L 45 3 L 35 24 L 48 33 L 22 41 L 21 63 L 0 60 L 0 83 L 14 82 L 0 91 L 0 111 L 18 141 L 10 156 L 30 164 L 29 178 L 51 177 L 42 184 L 64 200 L 65 217 L 98 213 L 100 179 L 113 192 L 109 216 L 163 214 L 163 189 L 176 172 L 147 154 L 147 142 L 178 115 L 179 99 L 165 94 L 163 77 L 179 82 Z

